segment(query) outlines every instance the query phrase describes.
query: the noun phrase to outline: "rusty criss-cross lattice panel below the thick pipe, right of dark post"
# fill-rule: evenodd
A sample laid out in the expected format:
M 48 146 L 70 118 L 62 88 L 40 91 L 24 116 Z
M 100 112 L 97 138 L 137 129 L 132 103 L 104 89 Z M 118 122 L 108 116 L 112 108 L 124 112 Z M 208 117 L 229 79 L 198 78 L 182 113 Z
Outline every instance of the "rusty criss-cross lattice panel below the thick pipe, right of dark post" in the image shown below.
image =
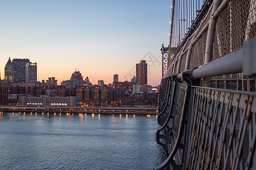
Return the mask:
M 187 169 L 255 166 L 255 94 L 194 88 Z

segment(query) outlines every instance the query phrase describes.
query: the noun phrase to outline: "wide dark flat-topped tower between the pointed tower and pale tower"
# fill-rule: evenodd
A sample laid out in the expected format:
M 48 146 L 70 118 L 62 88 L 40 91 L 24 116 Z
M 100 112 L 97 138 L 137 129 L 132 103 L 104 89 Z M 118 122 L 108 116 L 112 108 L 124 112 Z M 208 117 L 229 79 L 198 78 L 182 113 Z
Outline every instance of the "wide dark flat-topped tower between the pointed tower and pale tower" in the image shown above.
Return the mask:
M 14 71 L 14 83 L 22 83 L 26 80 L 26 63 L 30 62 L 30 59 L 13 59 L 13 71 Z

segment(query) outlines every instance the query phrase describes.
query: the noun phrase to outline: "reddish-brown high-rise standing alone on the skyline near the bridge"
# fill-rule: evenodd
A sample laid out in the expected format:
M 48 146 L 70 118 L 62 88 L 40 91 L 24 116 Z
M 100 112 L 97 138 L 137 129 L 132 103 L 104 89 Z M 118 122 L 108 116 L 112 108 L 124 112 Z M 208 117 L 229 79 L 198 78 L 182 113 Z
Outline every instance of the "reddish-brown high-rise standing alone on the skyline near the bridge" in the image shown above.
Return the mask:
M 136 64 L 136 78 L 138 85 L 147 85 L 147 63 L 145 60 Z

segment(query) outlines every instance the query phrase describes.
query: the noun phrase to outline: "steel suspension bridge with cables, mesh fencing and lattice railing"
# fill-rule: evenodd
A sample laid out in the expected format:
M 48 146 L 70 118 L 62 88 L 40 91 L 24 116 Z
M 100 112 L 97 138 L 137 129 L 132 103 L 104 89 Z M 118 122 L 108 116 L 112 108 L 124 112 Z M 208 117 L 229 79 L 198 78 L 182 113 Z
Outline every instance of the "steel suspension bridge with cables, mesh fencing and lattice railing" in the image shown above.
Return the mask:
M 256 169 L 256 1 L 173 0 L 155 169 Z

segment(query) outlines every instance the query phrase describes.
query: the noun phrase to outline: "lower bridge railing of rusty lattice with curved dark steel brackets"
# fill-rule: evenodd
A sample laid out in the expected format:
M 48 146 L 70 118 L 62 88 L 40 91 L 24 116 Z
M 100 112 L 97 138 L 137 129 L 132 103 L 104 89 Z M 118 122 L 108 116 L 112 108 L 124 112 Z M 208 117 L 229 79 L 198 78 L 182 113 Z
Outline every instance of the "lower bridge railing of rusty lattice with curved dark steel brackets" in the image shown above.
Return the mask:
M 177 75 L 168 77 L 169 107 L 159 114 L 164 123 L 156 131 L 167 159 L 156 169 L 253 169 L 256 93 L 192 86 L 199 82 L 182 74 L 184 84 Z

